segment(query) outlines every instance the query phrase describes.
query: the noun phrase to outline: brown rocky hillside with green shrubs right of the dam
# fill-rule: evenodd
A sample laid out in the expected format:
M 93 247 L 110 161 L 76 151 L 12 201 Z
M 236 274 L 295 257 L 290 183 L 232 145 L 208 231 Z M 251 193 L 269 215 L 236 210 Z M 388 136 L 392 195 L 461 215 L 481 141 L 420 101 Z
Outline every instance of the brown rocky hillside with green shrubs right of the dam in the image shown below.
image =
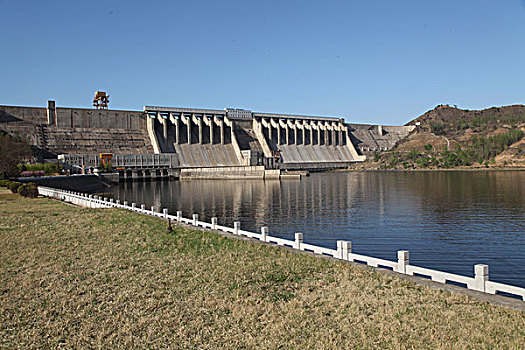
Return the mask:
M 366 168 L 525 167 L 525 106 L 464 110 L 440 105 L 407 125 L 416 130 Z

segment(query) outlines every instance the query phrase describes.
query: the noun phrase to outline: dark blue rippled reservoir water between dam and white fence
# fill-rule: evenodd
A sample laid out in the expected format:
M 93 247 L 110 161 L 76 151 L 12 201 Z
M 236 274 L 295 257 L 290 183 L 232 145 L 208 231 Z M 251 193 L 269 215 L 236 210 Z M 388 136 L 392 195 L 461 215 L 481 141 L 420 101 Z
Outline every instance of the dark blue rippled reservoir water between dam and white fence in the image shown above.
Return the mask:
M 331 172 L 301 181 L 128 182 L 121 201 L 219 224 L 525 287 L 525 171 Z

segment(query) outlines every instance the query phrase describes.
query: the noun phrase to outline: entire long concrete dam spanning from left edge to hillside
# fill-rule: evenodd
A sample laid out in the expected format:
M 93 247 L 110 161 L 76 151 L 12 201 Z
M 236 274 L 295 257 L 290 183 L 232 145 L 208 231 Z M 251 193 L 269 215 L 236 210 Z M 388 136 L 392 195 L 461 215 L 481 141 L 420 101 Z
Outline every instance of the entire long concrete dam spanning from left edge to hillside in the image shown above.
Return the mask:
M 54 101 L 47 108 L 0 106 L 0 131 L 26 137 L 40 161 L 60 154 L 172 154 L 190 177 L 343 168 L 364 161 L 367 152 L 391 148 L 413 128 L 242 109 L 97 110 L 57 108 Z

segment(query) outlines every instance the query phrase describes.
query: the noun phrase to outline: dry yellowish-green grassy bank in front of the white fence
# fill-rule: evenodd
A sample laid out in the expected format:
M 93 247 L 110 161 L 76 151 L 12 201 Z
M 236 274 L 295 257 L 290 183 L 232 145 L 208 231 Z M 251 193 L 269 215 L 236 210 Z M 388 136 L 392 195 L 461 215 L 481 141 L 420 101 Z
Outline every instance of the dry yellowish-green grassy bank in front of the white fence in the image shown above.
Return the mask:
M 119 210 L 0 193 L 5 348 L 519 348 L 525 314 Z

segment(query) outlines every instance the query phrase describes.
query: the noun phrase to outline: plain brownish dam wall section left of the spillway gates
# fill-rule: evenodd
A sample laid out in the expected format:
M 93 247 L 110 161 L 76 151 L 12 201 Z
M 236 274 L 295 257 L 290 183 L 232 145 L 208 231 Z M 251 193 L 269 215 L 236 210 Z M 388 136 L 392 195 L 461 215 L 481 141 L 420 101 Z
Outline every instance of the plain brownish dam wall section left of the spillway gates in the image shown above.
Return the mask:
M 137 111 L 0 106 L 0 130 L 26 137 L 42 158 L 62 153 L 153 153 L 146 116 Z

